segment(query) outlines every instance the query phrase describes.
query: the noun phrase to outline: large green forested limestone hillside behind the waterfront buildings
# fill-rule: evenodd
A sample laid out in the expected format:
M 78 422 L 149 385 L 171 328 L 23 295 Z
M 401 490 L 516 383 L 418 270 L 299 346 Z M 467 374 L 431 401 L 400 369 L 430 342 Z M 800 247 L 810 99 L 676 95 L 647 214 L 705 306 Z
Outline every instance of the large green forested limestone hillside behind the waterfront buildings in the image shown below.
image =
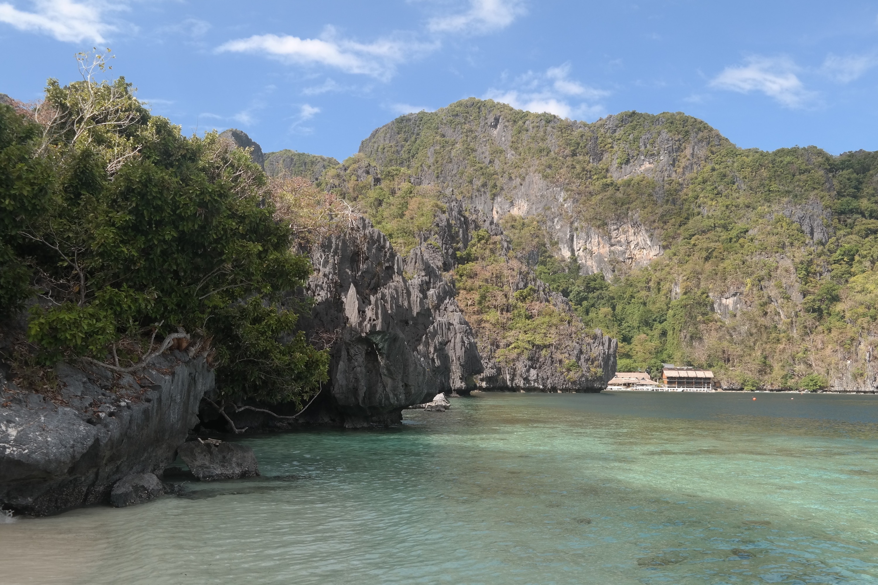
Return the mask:
M 442 246 L 454 202 L 500 225 L 516 261 L 619 340 L 620 369 L 673 362 L 712 368 L 726 387 L 871 389 L 876 175 L 878 153 L 740 149 L 681 113 L 586 124 L 468 99 L 379 128 L 318 183 L 401 248 Z M 473 234 L 457 236 L 446 268 L 464 295 Z M 479 302 L 500 289 L 479 282 L 468 318 L 515 322 L 515 303 Z

